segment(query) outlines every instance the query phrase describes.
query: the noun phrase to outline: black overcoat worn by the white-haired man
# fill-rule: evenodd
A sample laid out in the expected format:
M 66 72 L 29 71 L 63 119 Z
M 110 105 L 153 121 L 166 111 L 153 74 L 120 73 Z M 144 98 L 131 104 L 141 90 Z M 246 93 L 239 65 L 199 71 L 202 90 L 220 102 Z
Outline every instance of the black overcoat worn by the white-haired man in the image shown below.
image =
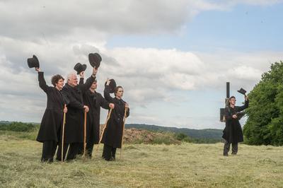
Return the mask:
M 62 94 L 69 100 L 64 129 L 64 143 L 83 142 L 83 93 L 91 87 L 95 79 L 95 77 L 91 76 L 86 80 L 86 83 L 79 84 L 75 87 L 71 87 L 66 83 L 62 89 Z

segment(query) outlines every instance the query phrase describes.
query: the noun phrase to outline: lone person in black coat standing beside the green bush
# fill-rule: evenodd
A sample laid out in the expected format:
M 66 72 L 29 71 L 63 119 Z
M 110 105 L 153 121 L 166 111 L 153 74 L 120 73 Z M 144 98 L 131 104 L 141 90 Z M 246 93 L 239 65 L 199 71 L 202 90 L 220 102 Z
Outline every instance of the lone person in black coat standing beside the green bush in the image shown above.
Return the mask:
M 229 106 L 224 110 L 224 117 L 226 119 L 226 126 L 223 131 L 222 138 L 225 139 L 223 155 L 228 156 L 230 145 L 232 144 L 232 155 L 238 153 L 238 143 L 243 141 L 243 131 L 239 122 L 241 112 L 248 107 L 248 97 L 245 95 L 245 105 L 239 107 L 235 106 L 236 98 L 232 96 L 229 98 Z

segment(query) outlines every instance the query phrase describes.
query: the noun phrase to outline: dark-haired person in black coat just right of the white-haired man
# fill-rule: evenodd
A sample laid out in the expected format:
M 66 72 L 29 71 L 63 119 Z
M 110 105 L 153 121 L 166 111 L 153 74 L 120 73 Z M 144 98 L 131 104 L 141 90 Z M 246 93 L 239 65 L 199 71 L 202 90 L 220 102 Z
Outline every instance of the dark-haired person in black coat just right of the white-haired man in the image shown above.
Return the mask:
M 83 76 L 79 84 L 83 84 Z M 103 96 L 96 92 L 97 81 L 94 81 L 91 88 L 83 93 L 83 103 L 89 108 L 86 121 L 86 156 L 91 158 L 93 145 L 98 144 L 100 139 L 100 107 L 108 110 L 114 108 L 113 103 L 109 103 Z M 83 153 L 83 144 L 80 146 L 79 153 Z

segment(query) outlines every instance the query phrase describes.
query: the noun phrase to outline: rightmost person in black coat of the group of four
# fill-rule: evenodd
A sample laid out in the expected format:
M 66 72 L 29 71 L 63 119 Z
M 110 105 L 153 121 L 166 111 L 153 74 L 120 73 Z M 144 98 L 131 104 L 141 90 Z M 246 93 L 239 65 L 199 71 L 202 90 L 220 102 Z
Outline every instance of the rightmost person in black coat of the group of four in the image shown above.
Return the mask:
M 104 98 L 108 102 L 112 102 L 115 105 L 114 110 L 110 115 L 107 126 L 105 128 L 103 138 L 101 143 L 104 143 L 103 146 L 103 158 L 105 160 L 115 160 L 115 153 L 117 148 L 121 148 L 122 145 L 122 134 L 123 134 L 123 124 L 125 116 L 129 116 L 129 105 L 127 102 L 122 100 L 124 90 L 121 86 L 117 86 L 114 90 L 115 98 L 110 96 L 110 80 L 106 81 L 106 86 L 104 89 Z

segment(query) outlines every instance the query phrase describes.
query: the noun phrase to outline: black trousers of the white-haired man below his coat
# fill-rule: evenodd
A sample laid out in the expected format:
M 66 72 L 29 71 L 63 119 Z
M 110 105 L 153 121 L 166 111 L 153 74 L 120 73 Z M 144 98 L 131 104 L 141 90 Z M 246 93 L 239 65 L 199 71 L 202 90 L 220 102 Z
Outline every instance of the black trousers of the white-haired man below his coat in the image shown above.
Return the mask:
M 69 151 L 66 160 L 73 160 L 76 158 L 76 155 L 79 153 L 80 143 L 64 143 L 63 159 L 66 156 L 68 146 L 69 146 Z M 62 143 L 59 144 L 56 160 L 61 160 L 61 159 L 62 159 Z

